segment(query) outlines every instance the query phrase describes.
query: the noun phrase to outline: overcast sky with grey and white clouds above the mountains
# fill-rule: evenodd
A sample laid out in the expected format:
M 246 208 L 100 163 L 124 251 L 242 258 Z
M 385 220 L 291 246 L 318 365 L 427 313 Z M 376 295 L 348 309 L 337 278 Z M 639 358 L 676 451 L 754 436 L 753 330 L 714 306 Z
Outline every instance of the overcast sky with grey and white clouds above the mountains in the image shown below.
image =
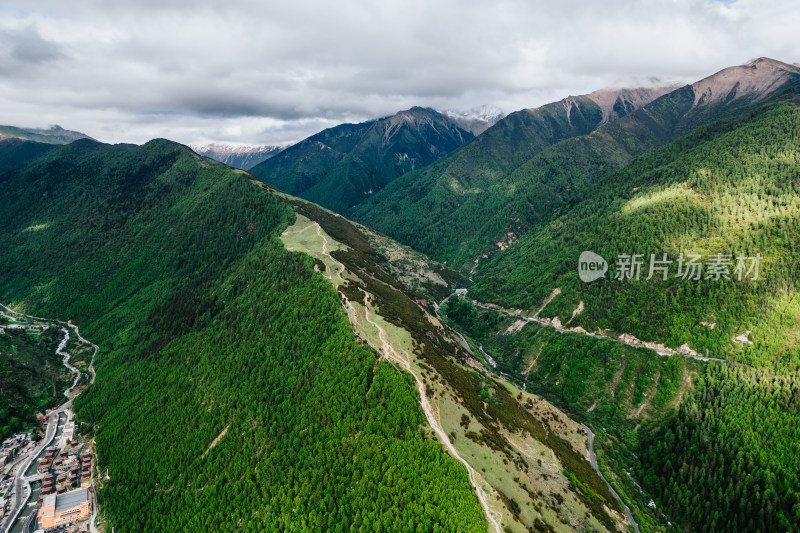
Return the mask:
M 504 112 L 800 61 L 797 0 L 3 0 L 0 124 L 278 144 L 413 105 Z

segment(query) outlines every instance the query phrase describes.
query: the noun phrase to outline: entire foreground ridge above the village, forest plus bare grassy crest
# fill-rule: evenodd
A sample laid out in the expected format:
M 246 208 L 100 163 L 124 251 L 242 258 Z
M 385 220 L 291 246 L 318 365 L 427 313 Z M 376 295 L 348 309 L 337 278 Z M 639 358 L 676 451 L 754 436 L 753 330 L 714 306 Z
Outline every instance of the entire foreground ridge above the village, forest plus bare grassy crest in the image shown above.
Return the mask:
M 100 346 L 75 409 L 118 530 L 624 521 L 580 426 L 470 368 L 342 217 L 164 140 L 58 148 L 0 213 L 0 298 Z

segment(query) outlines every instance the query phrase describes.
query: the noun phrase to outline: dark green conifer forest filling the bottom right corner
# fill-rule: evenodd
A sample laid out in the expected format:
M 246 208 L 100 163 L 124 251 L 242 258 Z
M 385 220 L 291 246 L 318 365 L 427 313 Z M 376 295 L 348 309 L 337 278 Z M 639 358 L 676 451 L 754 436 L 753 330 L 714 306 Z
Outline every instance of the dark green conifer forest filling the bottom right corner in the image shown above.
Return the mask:
M 800 380 L 714 364 L 643 433 L 645 487 L 692 531 L 800 528 Z

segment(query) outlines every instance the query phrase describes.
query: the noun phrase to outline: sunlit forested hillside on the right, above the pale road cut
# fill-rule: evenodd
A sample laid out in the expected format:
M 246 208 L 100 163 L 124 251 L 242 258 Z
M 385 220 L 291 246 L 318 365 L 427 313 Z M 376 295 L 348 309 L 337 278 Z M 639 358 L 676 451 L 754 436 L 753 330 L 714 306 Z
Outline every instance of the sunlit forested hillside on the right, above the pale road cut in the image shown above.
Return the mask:
M 630 333 L 673 348 L 690 342 L 701 354 L 797 369 L 792 296 L 800 276 L 792 235 L 800 205 L 798 118 L 794 100 L 767 105 L 647 153 L 489 259 L 473 291 L 479 299 L 533 309 L 558 287 L 561 295 L 542 316 L 565 323 L 583 301 L 572 326 Z M 579 279 L 584 250 L 608 258 L 604 279 Z M 647 259 L 641 279 L 612 279 L 618 256 L 634 253 Z M 664 253 L 672 273 L 664 281 L 656 271 L 646 281 L 650 255 L 661 260 Z M 702 263 L 723 254 L 731 279 L 706 279 L 707 271 L 697 281 L 676 278 L 681 254 L 700 254 Z M 737 256 L 758 254 L 758 279 L 739 280 Z M 746 330 L 755 344 L 733 341 Z

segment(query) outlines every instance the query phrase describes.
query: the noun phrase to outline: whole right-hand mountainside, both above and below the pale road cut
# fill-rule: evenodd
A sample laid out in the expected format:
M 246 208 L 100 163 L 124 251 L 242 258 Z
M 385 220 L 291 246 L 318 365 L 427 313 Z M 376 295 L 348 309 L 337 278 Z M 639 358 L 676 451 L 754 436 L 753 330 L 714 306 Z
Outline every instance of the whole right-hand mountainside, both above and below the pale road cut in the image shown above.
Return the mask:
M 800 527 L 799 163 L 800 99 L 787 94 L 609 174 L 488 259 L 470 289 L 478 300 L 538 311 L 573 336 L 635 337 L 677 350 L 673 359 L 724 360 L 682 379 L 668 366 L 640 371 L 682 382 L 685 395 L 676 411 L 656 410 L 652 423 L 637 425 L 632 467 L 659 509 L 692 531 Z M 606 259 L 605 276 L 581 281 L 584 251 Z M 636 262 L 638 274 L 629 268 Z M 627 403 L 608 405 L 608 397 L 633 360 L 608 341 L 569 339 L 526 328 L 485 342 L 535 390 L 618 416 L 613 408 Z M 574 395 L 576 385 L 585 395 Z M 642 390 L 649 398 L 639 404 L 663 406 L 659 389 Z

